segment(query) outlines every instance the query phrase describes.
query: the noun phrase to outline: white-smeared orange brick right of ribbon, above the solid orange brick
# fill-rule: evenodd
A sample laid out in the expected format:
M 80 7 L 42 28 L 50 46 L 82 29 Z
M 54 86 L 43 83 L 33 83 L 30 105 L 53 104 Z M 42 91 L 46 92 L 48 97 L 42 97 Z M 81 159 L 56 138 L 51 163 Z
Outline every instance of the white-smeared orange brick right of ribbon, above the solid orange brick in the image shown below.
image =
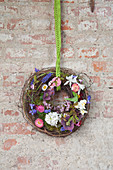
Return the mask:
M 99 57 L 99 51 L 96 48 L 80 48 L 78 50 L 78 57 L 97 58 Z

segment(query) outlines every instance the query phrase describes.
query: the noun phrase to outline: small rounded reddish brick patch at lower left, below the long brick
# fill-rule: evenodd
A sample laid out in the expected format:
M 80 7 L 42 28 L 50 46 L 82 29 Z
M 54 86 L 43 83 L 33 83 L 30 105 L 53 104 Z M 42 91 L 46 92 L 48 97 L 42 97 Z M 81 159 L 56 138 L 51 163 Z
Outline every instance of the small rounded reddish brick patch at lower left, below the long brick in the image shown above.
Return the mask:
M 4 150 L 10 150 L 14 145 L 16 145 L 17 144 L 17 141 L 16 141 L 16 139 L 8 139 L 8 140 L 6 140 L 5 142 L 4 142 L 4 147 L 3 147 L 3 149 Z

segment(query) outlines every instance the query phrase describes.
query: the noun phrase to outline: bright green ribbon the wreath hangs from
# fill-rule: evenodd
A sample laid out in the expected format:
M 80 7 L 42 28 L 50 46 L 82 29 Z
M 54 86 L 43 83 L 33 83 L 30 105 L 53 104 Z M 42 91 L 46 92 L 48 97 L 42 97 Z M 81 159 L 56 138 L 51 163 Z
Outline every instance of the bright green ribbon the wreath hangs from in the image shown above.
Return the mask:
M 60 6 L 60 0 L 54 0 L 54 18 L 55 18 L 55 38 L 56 38 L 56 50 L 57 50 L 56 77 L 60 77 L 60 50 L 61 50 L 61 6 Z

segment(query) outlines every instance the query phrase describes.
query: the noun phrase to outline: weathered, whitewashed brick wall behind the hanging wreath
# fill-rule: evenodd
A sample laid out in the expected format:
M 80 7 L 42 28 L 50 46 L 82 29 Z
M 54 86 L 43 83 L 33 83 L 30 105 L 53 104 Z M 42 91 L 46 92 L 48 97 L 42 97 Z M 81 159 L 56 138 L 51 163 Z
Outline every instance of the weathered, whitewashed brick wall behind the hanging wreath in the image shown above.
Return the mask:
M 1 170 L 113 170 L 113 1 L 61 5 L 61 66 L 94 81 L 89 117 L 66 138 L 32 132 L 17 104 L 34 68 L 55 66 L 54 4 L 0 0 Z

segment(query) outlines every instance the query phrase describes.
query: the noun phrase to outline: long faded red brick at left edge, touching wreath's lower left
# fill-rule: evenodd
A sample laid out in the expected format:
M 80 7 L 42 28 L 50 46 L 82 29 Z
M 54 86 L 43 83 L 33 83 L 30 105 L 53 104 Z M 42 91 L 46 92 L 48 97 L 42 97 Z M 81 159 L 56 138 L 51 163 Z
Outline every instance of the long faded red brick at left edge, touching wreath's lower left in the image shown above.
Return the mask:
M 32 132 L 29 130 L 29 126 L 27 123 L 2 123 L 2 133 L 8 135 L 29 135 L 36 134 L 36 132 Z

